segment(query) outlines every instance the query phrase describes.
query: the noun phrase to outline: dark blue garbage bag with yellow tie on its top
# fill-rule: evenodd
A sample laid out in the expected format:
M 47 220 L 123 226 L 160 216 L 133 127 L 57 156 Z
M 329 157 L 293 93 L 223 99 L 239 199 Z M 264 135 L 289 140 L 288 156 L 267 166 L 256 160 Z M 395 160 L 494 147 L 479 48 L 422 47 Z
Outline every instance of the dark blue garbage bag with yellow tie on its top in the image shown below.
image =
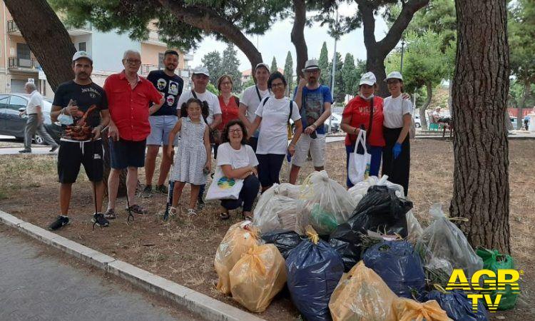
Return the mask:
M 315 235 L 290 250 L 287 285 L 295 307 L 308 321 L 331 320 L 329 300 L 344 272 L 340 255 Z

